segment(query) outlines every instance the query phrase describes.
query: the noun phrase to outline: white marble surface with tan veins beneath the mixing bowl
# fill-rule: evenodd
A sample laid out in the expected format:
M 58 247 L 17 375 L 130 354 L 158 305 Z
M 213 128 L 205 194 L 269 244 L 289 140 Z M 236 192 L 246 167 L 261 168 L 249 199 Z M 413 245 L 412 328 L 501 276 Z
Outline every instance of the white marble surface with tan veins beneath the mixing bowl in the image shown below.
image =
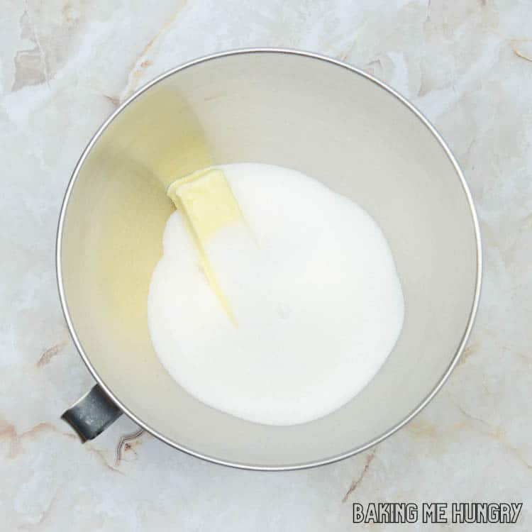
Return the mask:
M 2 528 L 352 530 L 353 501 L 485 500 L 523 501 L 519 523 L 504 529 L 530 530 L 532 2 L 150 4 L 2 4 Z M 448 140 L 484 238 L 484 289 L 470 345 L 414 421 L 335 465 L 232 470 L 145 433 L 117 455 L 121 438 L 137 431 L 125 417 L 82 446 L 58 418 L 92 385 L 55 287 L 55 228 L 70 172 L 101 121 L 140 84 L 209 52 L 262 45 L 314 50 L 372 72 Z M 417 528 L 428 526 L 408 529 Z

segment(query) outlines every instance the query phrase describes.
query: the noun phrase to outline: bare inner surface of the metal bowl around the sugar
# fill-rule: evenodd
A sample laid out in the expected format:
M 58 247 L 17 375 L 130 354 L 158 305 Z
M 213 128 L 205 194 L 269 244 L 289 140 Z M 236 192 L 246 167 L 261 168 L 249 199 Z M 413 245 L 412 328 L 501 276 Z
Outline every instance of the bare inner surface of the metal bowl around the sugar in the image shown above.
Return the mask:
M 320 179 L 378 221 L 394 254 L 405 297 L 397 345 L 357 397 L 311 423 L 262 426 L 211 409 L 167 375 L 150 344 L 148 286 L 173 210 L 165 187 L 230 162 Z M 138 95 L 79 165 L 60 234 L 67 312 L 99 379 L 168 442 L 255 467 L 328 460 L 409 416 L 462 343 L 477 266 L 467 193 L 426 123 L 372 79 L 288 52 L 196 62 Z

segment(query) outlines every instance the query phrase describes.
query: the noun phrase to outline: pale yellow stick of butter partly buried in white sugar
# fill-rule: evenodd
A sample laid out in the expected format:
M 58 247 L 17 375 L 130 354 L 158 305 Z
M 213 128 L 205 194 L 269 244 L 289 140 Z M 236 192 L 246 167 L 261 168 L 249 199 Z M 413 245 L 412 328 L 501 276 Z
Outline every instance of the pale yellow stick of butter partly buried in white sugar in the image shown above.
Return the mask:
M 226 176 L 218 168 L 199 170 L 171 183 L 167 196 L 172 199 L 187 224 L 211 288 L 231 321 L 236 324 L 231 306 L 216 279 L 205 250 L 206 241 L 217 231 L 233 223 L 245 223 Z

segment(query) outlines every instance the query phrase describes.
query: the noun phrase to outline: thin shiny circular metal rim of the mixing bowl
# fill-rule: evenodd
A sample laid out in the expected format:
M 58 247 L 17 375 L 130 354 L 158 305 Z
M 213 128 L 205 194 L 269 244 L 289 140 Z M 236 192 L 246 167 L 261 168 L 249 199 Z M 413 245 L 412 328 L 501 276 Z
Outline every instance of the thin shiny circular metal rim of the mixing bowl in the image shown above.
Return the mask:
M 467 199 L 467 204 L 470 208 L 470 214 L 472 218 L 472 223 L 475 231 L 475 241 L 476 241 L 476 250 L 477 250 L 477 272 L 476 272 L 476 279 L 475 279 L 475 295 L 473 297 L 472 306 L 470 310 L 470 315 L 467 318 L 467 325 L 465 327 L 465 331 L 462 335 L 462 338 L 460 340 L 460 343 L 458 345 L 457 350 L 455 351 L 455 354 L 453 355 L 453 358 L 450 361 L 450 364 L 448 365 L 445 372 L 443 372 L 443 375 L 438 379 L 438 382 L 436 383 L 436 386 L 433 387 L 431 392 L 429 392 L 426 397 L 419 403 L 418 406 L 416 406 L 415 409 L 409 412 L 404 419 L 399 421 L 399 423 L 396 423 L 394 426 L 389 428 L 384 433 L 379 434 L 378 436 L 375 436 L 375 438 L 372 438 L 371 440 L 367 441 L 366 443 L 362 445 L 358 445 L 357 447 L 350 449 L 348 451 L 345 451 L 344 453 L 340 453 L 337 455 L 333 455 L 327 458 L 322 458 L 321 460 L 312 460 L 309 462 L 301 462 L 301 463 L 295 463 L 295 464 L 289 464 L 289 465 L 255 465 L 255 464 L 248 464 L 243 462 L 236 462 L 233 460 L 223 460 L 221 458 L 216 458 L 214 456 L 209 456 L 204 453 L 200 453 L 192 448 L 188 448 L 185 445 L 181 445 L 170 438 L 167 438 L 159 431 L 155 430 L 155 428 L 152 428 L 148 425 L 148 423 L 145 423 L 142 419 L 140 419 L 138 416 L 136 416 L 133 411 L 128 409 L 128 407 L 123 404 L 116 396 L 113 394 L 112 390 L 107 386 L 107 384 L 104 382 L 103 379 L 98 375 L 96 372 L 96 369 L 92 365 L 92 362 L 89 360 L 89 357 L 84 352 L 84 349 L 82 347 L 81 342 L 79 341 L 79 338 L 77 336 L 77 333 L 74 328 L 74 323 L 72 323 L 72 318 L 70 317 L 70 313 L 67 306 L 67 300 L 65 297 L 65 289 L 63 287 L 63 279 L 62 279 L 62 266 L 61 266 L 61 250 L 62 250 L 62 233 L 63 228 L 65 225 L 65 216 L 67 213 L 67 207 L 70 200 L 70 195 L 72 194 L 72 189 L 74 188 L 74 184 L 77 181 L 77 176 L 79 174 L 79 170 L 81 169 L 84 160 L 87 158 L 89 153 L 91 152 L 94 144 L 99 139 L 100 135 L 106 130 L 107 126 L 118 116 L 123 109 L 126 109 L 126 107 L 131 104 L 133 100 L 138 98 L 141 94 L 146 92 L 150 87 L 153 87 L 153 85 L 157 84 L 158 82 L 162 81 L 163 79 L 172 76 L 173 74 L 176 74 L 177 72 L 180 72 L 181 70 L 185 70 L 189 67 L 194 67 L 194 65 L 199 65 L 200 63 L 209 62 L 212 60 L 219 59 L 221 57 L 227 57 L 231 55 L 247 55 L 247 54 L 264 54 L 264 53 L 270 53 L 270 54 L 282 54 L 282 55 L 294 55 L 299 57 L 306 57 L 318 61 L 328 62 L 331 65 L 336 65 L 340 68 L 345 68 L 346 70 L 349 70 L 350 72 L 353 72 L 353 74 L 358 74 L 365 79 L 368 79 L 370 82 L 375 83 L 378 87 L 381 89 L 384 89 L 389 94 L 394 96 L 401 104 L 406 106 L 410 111 L 412 111 L 423 123 L 426 128 L 433 134 L 433 136 L 436 138 L 440 146 L 445 151 L 445 154 L 448 156 L 450 162 L 453 164 L 453 167 L 455 168 L 455 172 L 458 175 L 459 182 L 462 186 L 462 190 L 465 194 L 465 197 Z M 77 348 L 77 351 L 79 355 L 81 356 L 83 362 L 87 366 L 89 372 L 92 374 L 96 382 L 101 386 L 102 389 L 106 392 L 106 394 L 109 396 L 109 398 L 123 411 L 126 416 L 128 416 L 130 419 L 135 421 L 140 427 L 144 428 L 145 431 L 148 431 L 149 433 L 153 434 L 156 438 L 161 440 L 162 442 L 166 443 L 167 445 L 170 445 L 172 448 L 178 449 L 183 451 L 184 453 L 187 453 L 189 455 L 192 455 L 196 458 L 201 458 L 202 460 L 206 460 L 208 462 L 213 462 L 219 465 L 226 465 L 229 467 L 236 467 L 238 469 L 244 469 L 244 470 L 257 470 L 257 471 L 287 471 L 287 470 L 301 470 L 306 469 L 309 467 L 317 467 L 319 465 L 326 465 L 333 462 L 338 462 L 339 460 L 343 460 L 344 458 L 348 458 L 350 456 L 353 456 L 358 453 L 362 453 L 363 451 L 373 447 L 377 443 L 381 442 L 385 438 L 388 438 L 388 436 L 392 436 L 393 433 L 399 430 L 399 428 L 403 427 L 411 421 L 411 419 L 414 418 L 419 412 L 433 399 L 433 397 L 439 392 L 441 387 L 443 387 L 443 384 L 447 381 L 448 377 L 450 376 L 450 373 L 453 371 L 455 366 L 458 363 L 458 360 L 460 359 L 460 355 L 462 354 L 462 351 L 465 348 L 465 345 L 467 343 L 467 340 L 470 336 L 473 323 L 475 321 L 475 316 L 477 314 L 477 309 L 480 301 L 480 289 L 482 284 L 482 243 L 480 238 L 480 226 L 479 221 L 477 218 L 477 212 L 475 210 L 475 204 L 472 200 L 472 195 L 470 192 L 470 189 L 467 185 L 467 182 L 465 181 L 465 177 L 462 173 L 462 170 L 460 169 L 460 165 L 458 165 L 457 160 L 455 159 L 455 156 L 451 152 L 450 148 L 448 147 L 447 143 L 445 143 L 445 140 L 441 137 L 440 133 L 436 130 L 436 128 L 432 125 L 430 121 L 419 111 L 419 109 L 416 109 L 416 107 L 411 104 L 404 96 L 401 96 L 399 92 L 397 92 L 395 89 L 392 89 L 392 87 L 389 87 L 386 83 L 382 82 L 381 80 L 377 79 L 376 77 L 372 76 L 371 74 L 368 74 L 367 72 L 364 72 L 363 70 L 360 70 L 357 67 L 353 67 L 352 65 L 348 65 L 348 63 L 345 63 L 340 60 L 336 60 L 333 57 L 328 57 L 326 55 L 321 55 L 314 52 L 306 52 L 304 50 L 294 50 L 290 48 L 239 48 L 235 50 L 227 50 L 224 52 L 218 52 L 211 55 L 205 55 L 203 57 L 199 57 L 197 59 L 188 61 L 183 63 L 182 65 L 179 65 L 177 67 L 174 67 L 170 70 L 167 70 L 166 72 L 163 72 L 159 76 L 155 77 L 155 79 L 152 79 L 150 82 L 144 84 L 142 87 L 140 87 L 138 90 L 136 90 L 131 96 L 129 96 L 123 103 L 118 106 L 118 108 L 111 113 L 111 115 L 106 118 L 104 123 L 101 124 L 101 126 L 98 128 L 96 133 L 92 136 L 91 140 L 89 140 L 89 143 L 87 144 L 86 148 L 83 150 L 82 155 L 79 157 L 79 160 L 76 163 L 76 166 L 74 167 L 74 171 L 72 172 L 72 176 L 70 177 L 70 181 L 67 185 L 67 189 L 65 192 L 65 196 L 62 201 L 61 210 L 60 210 L 60 216 L 59 221 L 57 224 L 57 235 L 56 235 L 56 248 L 55 248 L 55 266 L 56 266 L 56 275 L 57 275 L 57 289 L 59 291 L 60 301 L 61 301 L 61 307 L 63 315 L 65 316 L 65 321 L 67 322 L 67 327 L 70 332 L 70 336 L 72 336 L 72 340 L 74 341 L 74 345 Z

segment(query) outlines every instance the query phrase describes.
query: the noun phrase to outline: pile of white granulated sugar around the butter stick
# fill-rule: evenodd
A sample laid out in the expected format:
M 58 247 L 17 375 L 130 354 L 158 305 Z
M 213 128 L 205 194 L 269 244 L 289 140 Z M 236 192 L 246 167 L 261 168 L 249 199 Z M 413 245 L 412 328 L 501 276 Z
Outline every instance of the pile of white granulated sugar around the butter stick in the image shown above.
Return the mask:
M 219 231 L 206 253 L 237 325 L 176 211 L 148 296 L 155 352 L 187 392 L 234 416 L 289 425 L 329 414 L 374 377 L 401 331 L 392 253 L 369 214 L 316 179 L 221 168 L 248 227 Z

